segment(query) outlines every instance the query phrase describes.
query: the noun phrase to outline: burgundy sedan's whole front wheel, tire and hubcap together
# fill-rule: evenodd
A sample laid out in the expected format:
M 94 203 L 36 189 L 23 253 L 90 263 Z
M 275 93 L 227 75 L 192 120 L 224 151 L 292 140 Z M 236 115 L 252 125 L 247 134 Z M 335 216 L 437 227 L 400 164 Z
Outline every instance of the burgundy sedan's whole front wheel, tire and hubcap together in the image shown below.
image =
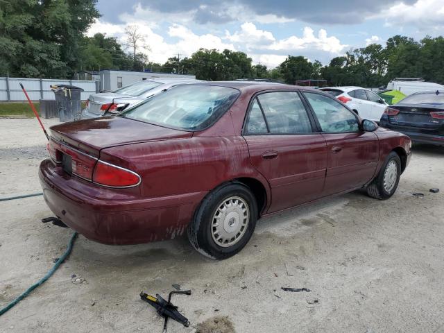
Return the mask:
M 386 158 L 377 177 L 367 187 L 367 194 L 372 198 L 388 199 L 398 188 L 401 176 L 401 160 L 397 153 L 392 151 Z

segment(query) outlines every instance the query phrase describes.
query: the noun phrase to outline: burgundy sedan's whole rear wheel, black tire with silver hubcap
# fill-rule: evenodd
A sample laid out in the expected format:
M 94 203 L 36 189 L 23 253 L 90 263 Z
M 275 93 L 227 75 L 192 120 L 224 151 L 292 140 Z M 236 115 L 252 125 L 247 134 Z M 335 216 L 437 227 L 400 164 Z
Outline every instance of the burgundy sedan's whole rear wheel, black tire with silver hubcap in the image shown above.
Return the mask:
M 256 221 L 255 196 L 245 185 L 230 182 L 203 199 L 188 227 L 188 238 L 203 255 L 226 259 L 246 246 Z

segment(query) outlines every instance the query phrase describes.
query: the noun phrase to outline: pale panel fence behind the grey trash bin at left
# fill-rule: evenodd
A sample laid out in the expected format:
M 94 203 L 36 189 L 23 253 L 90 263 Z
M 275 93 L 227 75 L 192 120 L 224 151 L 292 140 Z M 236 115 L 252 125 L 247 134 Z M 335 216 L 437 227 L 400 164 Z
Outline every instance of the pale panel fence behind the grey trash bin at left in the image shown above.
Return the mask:
M 0 78 L 0 101 L 26 101 L 19 83 L 24 85 L 29 98 L 33 101 L 39 99 L 56 99 L 51 90 L 51 85 L 75 85 L 85 91 L 81 99 L 85 101 L 90 94 L 99 92 L 98 81 L 85 80 L 56 80 L 49 78 Z

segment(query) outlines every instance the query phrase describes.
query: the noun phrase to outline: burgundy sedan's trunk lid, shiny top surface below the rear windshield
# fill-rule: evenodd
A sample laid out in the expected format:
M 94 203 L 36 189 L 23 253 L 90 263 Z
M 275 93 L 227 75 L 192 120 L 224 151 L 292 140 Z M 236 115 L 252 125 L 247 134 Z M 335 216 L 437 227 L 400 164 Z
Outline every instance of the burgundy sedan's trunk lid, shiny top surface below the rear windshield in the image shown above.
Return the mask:
M 101 117 L 51 127 L 53 139 L 93 157 L 99 157 L 99 152 L 103 148 L 187 138 L 192 135 L 192 132 L 164 128 L 123 117 Z

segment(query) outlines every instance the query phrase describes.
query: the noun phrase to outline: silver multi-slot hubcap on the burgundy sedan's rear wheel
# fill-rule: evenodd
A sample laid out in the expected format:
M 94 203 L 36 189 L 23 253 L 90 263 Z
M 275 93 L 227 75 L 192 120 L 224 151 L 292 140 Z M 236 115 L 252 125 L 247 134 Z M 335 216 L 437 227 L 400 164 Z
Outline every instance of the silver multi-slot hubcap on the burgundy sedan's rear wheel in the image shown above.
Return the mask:
M 212 237 L 217 245 L 228 248 L 244 236 L 250 211 L 243 198 L 231 196 L 223 200 L 216 208 L 212 219 Z

